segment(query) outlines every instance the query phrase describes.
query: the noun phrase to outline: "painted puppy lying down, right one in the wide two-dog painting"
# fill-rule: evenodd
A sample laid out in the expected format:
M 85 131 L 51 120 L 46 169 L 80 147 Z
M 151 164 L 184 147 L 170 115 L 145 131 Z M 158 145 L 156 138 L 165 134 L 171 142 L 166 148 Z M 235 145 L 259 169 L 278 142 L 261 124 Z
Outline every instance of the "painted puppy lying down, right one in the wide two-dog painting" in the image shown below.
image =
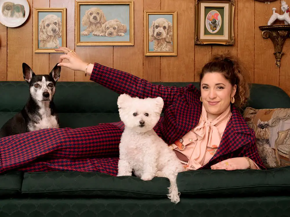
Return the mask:
M 118 19 L 109 20 L 102 25 L 100 36 L 115 37 L 124 36 L 127 32 L 126 25 L 122 24 Z

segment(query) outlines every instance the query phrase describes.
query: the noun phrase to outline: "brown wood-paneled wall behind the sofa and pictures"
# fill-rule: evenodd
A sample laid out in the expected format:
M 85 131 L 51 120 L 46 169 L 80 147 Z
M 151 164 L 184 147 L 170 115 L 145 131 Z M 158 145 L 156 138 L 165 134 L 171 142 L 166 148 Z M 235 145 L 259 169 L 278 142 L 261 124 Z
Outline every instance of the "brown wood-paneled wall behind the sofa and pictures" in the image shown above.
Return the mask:
M 280 0 L 265 4 L 254 0 L 236 0 L 234 46 L 194 45 L 194 0 L 135 0 L 134 46 L 75 46 L 74 0 L 28 0 L 30 15 L 17 28 L 0 24 L 0 80 L 23 80 L 21 63 L 32 66 L 36 73 L 48 73 L 57 63 L 58 53 L 33 52 L 33 8 L 67 8 L 67 46 L 87 62 L 114 67 L 149 81 L 197 81 L 195 73 L 212 54 L 230 51 L 249 70 L 251 81 L 281 87 L 290 95 L 290 40 L 284 44 L 281 67 L 275 65 L 270 39 L 262 38 L 260 25 L 266 25 L 272 8 Z M 177 10 L 177 56 L 144 56 L 144 10 Z M 280 11 L 280 13 L 282 13 Z M 63 68 L 61 81 L 87 81 L 78 71 Z

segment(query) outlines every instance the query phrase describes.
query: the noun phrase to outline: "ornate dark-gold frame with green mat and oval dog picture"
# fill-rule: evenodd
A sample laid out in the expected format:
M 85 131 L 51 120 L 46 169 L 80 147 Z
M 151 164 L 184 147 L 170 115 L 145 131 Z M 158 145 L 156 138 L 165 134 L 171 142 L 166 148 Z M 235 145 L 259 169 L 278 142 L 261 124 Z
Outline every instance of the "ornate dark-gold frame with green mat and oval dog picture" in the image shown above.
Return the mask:
M 196 0 L 195 44 L 234 45 L 235 0 Z

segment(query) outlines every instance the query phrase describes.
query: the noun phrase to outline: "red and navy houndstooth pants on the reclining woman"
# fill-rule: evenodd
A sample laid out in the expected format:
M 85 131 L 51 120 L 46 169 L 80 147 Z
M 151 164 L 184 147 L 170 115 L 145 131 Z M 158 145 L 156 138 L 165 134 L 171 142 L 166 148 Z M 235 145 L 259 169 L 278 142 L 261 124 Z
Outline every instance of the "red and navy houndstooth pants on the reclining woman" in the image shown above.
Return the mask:
M 50 128 L 0 139 L 0 172 L 78 171 L 117 175 L 123 129 L 113 124 Z

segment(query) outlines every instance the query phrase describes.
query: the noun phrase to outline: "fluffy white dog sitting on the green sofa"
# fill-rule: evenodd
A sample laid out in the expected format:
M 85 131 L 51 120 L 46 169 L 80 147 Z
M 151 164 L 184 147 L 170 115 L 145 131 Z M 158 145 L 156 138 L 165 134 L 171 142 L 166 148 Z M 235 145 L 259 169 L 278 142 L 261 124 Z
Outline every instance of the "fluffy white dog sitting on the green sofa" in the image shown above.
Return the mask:
M 117 104 L 125 124 L 119 145 L 118 176 L 131 176 L 133 171 L 143 180 L 151 180 L 154 176 L 167 177 L 170 181 L 167 196 L 171 202 L 178 203 L 180 193 L 176 177 L 184 168 L 175 153 L 153 130 L 162 112 L 163 99 L 139 99 L 122 94 Z

